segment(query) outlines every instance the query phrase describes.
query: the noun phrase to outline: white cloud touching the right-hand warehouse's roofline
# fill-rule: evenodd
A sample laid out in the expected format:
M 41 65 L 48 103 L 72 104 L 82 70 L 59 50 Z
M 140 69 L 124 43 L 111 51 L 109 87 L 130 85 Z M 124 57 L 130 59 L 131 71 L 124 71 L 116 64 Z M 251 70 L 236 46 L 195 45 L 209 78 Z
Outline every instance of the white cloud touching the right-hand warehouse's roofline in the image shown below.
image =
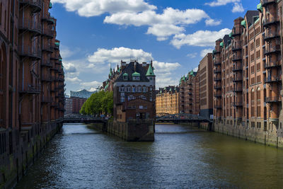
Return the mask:
M 223 38 L 224 35 L 231 33 L 231 30 L 224 28 L 219 31 L 210 30 L 198 30 L 195 33 L 185 35 L 184 33 L 175 35 L 171 44 L 176 48 L 180 48 L 183 45 L 192 45 L 198 47 L 214 46 L 215 41 L 219 38 Z

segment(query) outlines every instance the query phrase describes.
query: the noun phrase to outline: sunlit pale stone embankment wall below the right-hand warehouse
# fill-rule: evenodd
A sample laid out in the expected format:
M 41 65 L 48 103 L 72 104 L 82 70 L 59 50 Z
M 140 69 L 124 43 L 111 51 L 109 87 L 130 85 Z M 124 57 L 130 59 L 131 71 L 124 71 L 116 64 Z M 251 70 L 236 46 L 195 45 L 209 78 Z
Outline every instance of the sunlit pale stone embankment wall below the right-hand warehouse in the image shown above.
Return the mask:
M 283 148 L 283 137 L 281 132 L 276 130 L 264 131 L 257 127 L 234 126 L 230 124 L 216 124 L 214 122 L 213 130 L 222 134 L 238 137 L 253 142 L 258 142 L 272 147 Z

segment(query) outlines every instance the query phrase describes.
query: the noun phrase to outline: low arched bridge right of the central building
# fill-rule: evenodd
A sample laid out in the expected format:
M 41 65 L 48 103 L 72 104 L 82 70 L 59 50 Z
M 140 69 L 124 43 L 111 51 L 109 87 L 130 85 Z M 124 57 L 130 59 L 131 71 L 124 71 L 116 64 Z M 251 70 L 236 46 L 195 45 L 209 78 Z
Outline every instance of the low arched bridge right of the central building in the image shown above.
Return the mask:
M 178 113 L 178 114 L 170 114 L 170 115 L 163 115 L 161 117 L 156 117 L 156 122 L 209 122 L 211 123 L 212 120 L 204 118 L 199 115 L 187 114 L 187 113 Z

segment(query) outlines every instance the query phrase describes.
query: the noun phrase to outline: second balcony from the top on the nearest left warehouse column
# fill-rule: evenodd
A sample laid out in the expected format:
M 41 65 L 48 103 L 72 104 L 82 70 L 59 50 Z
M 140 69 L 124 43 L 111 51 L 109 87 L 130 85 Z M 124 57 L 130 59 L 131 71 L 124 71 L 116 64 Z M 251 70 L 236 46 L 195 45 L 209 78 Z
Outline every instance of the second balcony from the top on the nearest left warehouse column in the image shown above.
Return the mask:
M 41 24 L 33 20 L 23 20 L 18 23 L 18 30 L 22 33 L 28 31 L 35 36 L 41 35 Z

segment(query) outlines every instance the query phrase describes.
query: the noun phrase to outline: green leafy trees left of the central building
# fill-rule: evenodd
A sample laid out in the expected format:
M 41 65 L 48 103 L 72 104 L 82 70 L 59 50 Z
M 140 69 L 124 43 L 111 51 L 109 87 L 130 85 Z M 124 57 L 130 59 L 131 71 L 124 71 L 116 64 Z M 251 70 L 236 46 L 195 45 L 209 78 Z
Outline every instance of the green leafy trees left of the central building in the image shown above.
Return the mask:
M 80 113 L 83 115 L 100 115 L 113 113 L 113 92 L 110 91 L 99 91 L 93 93 L 83 106 L 81 107 Z

